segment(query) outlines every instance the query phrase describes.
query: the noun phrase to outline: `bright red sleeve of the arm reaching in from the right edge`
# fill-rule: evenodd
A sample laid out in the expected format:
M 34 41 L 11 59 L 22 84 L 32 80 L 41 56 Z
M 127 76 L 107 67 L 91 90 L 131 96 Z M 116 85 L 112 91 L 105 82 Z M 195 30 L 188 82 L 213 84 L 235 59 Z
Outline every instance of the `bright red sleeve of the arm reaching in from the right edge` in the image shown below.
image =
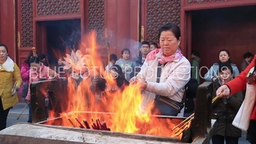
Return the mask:
M 254 59 L 250 63 L 250 65 L 248 65 L 248 67 L 246 67 L 245 70 L 241 72 L 241 74 L 239 74 L 239 76 L 237 76 L 234 80 L 227 83 L 227 86 L 230 89 L 231 95 L 246 89 L 246 83 L 247 83 L 246 75 L 251 70 L 251 68 L 255 67 L 255 59 L 256 59 L 256 54 L 254 56 Z

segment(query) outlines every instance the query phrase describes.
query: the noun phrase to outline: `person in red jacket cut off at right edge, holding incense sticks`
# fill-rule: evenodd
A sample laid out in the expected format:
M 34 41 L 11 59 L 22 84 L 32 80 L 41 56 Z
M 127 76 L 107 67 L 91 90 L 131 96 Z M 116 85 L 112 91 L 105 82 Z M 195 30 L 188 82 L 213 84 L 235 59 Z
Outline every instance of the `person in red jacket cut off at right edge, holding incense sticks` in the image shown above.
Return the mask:
M 254 59 L 252 60 L 252 63 L 246 67 L 246 69 L 241 72 L 239 76 L 237 76 L 234 80 L 223 84 L 218 90 L 216 91 L 216 95 L 220 95 L 220 98 L 226 98 L 229 95 L 232 95 L 237 92 L 241 92 L 246 89 L 246 84 L 255 84 L 255 78 L 253 81 L 247 81 L 247 74 L 248 72 L 255 67 L 256 69 L 256 54 L 254 56 Z M 255 76 L 254 76 L 255 77 Z M 223 93 L 221 93 L 223 92 Z M 250 126 L 247 132 L 247 140 L 250 143 L 256 143 L 256 105 L 253 109 L 252 115 L 250 116 Z

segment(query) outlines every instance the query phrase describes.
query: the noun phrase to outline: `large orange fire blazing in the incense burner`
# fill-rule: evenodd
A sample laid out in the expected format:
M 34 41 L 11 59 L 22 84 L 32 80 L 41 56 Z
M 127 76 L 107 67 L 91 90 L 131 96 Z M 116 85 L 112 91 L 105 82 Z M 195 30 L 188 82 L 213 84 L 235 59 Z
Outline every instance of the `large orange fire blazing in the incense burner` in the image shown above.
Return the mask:
M 109 76 L 108 72 L 104 72 L 102 60 L 97 52 L 95 32 L 86 36 L 81 47 L 90 47 L 92 59 L 86 61 L 86 66 L 102 67 L 98 68 L 97 72 L 106 77 L 108 86 L 114 86 L 114 79 Z M 83 53 L 84 49 L 81 49 L 81 51 Z M 150 134 L 179 139 L 182 137 L 182 134 L 177 136 L 179 132 L 175 134 L 175 131 L 171 130 L 182 119 L 159 118 L 150 115 L 150 113 L 140 112 L 142 95 L 141 89 L 138 86 L 126 86 L 122 92 L 120 90 L 104 92 L 100 99 L 97 99 L 95 93 L 90 91 L 90 81 L 90 78 L 84 79 L 77 89 L 74 83 L 68 81 L 68 106 L 63 108 L 65 112 L 60 114 L 63 118 L 58 122 L 57 120 L 50 120 L 47 124 L 79 127 L 77 120 L 82 123 L 83 120 L 87 120 L 91 126 L 91 119 L 96 120 L 96 118 L 99 118 L 101 122 L 103 120 L 106 122 L 111 131 Z M 71 114 L 67 115 L 68 112 L 71 112 Z M 49 112 L 49 116 L 51 115 L 54 115 L 54 111 Z

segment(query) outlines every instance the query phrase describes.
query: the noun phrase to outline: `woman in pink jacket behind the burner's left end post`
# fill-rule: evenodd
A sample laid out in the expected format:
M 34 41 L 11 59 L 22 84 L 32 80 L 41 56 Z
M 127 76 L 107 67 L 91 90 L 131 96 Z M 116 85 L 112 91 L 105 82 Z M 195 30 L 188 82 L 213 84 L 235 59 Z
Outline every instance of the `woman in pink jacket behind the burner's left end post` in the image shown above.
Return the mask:
M 54 70 L 46 67 L 44 63 L 41 63 L 39 58 L 33 56 L 29 60 L 30 72 L 29 72 L 29 84 L 40 81 L 41 79 L 54 79 L 58 76 Z M 28 103 L 31 101 L 30 86 L 28 87 L 28 94 L 26 96 Z M 29 104 L 29 112 L 31 111 L 31 104 Z M 32 119 L 32 118 L 31 118 Z M 32 121 L 32 120 L 31 120 Z

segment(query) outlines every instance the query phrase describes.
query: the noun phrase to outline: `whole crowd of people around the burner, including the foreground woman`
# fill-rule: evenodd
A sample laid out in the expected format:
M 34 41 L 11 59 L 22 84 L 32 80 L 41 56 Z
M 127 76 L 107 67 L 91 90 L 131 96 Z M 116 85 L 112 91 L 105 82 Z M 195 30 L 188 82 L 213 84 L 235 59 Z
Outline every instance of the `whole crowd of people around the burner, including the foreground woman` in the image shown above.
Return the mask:
M 67 92 L 68 82 L 74 83 L 77 90 L 79 90 L 81 83 L 85 81 L 90 83 L 90 92 L 95 95 L 97 100 L 106 90 L 122 91 L 128 85 L 139 86 L 143 95 L 141 113 L 145 113 L 148 104 L 153 103 L 150 112 L 154 115 L 177 116 L 183 113 L 182 109 L 185 109 L 184 116 L 186 113 L 190 115 L 194 112 L 193 100 L 196 98 L 196 88 L 201 83 L 199 76 L 200 53 L 193 50 L 191 62 L 182 55 L 179 46 L 180 28 L 173 23 L 161 26 L 158 35 L 159 47 L 156 43 L 141 42 L 140 56 L 134 60 L 130 58 L 131 51 L 129 49 L 122 50 L 122 58 L 119 60 L 116 54 L 110 54 L 109 63 L 104 67 L 104 70 L 115 74 L 115 88 L 109 88 L 106 79 L 100 77 L 100 73 L 95 72 L 95 69 L 82 68 L 79 72 L 73 72 L 70 68 L 63 67 L 64 63 L 61 59 L 58 60 L 58 65 L 61 68 L 58 68 L 58 72 L 56 72 L 49 68 L 44 54 L 37 56 L 33 51 L 29 52 L 28 58 L 19 68 L 8 56 L 6 45 L 0 44 L 0 131 L 6 127 L 10 108 L 18 102 L 17 90 L 20 89 L 22 97 L 28 102 L 28 122 L 31 123 L 33 120 L 29 84 L 45 79 L 58 79 L 59 77 L 65 77 L 65 79 L 61 79 L 63 93 Z M 81 51 L 77 51 L 76 54 L 79 56 Z M 251 72 L 250 69 L 256 67 L 256 55 L 253 59 L 252 53 L 246 52 L 244 54 L 244 61 L 240 69 L 241 74 L 239 74 L 237 66 L 231 63 L 230 53 L 226 49 L 222 49 L 218 56 L 218 63 L 214 63 L 204 76 L 205 81 L 212 81 L 213 83 L 214 95 L 212 98 L 219 96 L 219 99 L 212 104 L 212 118 L 216 119 L 212 143 L 224 143 L 226 141 L 227 144 L 233 144 L 238 143 L 241 137 L 241 129 L 232 125 L 232 121 L 243 103 L 244 95 L 250 94 L 245 91 L 246 84 L 247 86 L 256 86 L 256 68 L 246 79 L 248 72 Z M 84 65 L 92 65 L 90 54 L 84 54 L 83 60 Z M 193 86 L 188 86 L 189 84 Z M 184 101 L 185 94 L 188 101 Z M 252 95 L 252 97 L 255 96 Z M 250 119 L 248 141 L 256 143 L 255 106 Z

